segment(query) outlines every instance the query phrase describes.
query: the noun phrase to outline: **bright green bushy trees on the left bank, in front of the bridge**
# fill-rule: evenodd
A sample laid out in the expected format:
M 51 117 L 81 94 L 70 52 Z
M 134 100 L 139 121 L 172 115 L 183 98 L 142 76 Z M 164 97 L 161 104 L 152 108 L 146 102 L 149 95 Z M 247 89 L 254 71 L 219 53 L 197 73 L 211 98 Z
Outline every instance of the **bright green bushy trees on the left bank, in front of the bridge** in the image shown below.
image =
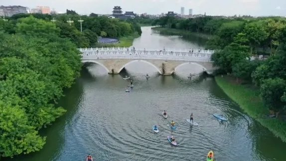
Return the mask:
M 81 69 L 80 52 L 60 37 L 55 23 L 27 18 L 0 19 L 0 157 L 38 151 L 38 130 L 65 110 L 62 96 Z

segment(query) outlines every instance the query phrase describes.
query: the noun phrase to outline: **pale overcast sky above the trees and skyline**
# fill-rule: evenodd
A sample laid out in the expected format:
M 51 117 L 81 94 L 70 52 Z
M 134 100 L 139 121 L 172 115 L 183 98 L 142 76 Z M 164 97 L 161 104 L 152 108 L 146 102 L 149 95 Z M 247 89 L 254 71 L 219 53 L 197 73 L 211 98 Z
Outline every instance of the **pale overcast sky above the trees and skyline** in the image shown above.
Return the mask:
M 49 6 L 52 10 L 65 12 L 75 10 L 79 14 L 110 14 L 115 5 L 122 11 L 135 13 L 159 14 L 167 11 L 185 14 L 193 9 L 193 14 L 207 15 L 280 15 L 286 16 L 286 0 L 0 0 L 0 5 L 22 5 L 30 9 Z

